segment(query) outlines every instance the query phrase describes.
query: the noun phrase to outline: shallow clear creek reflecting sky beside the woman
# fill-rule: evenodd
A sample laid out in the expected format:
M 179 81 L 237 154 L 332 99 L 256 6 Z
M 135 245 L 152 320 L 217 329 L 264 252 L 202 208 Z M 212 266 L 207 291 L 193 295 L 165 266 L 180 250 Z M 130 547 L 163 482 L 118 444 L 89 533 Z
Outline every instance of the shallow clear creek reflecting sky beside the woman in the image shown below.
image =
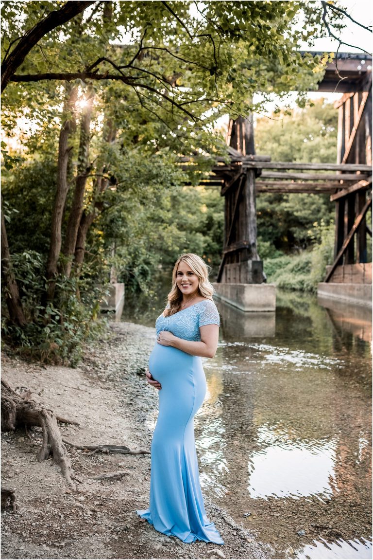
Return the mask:
M 166 293 L 122 319 L 154 326 Z M 281 291 L 276 313 L 217 305 L 202 492 L 274 558 L 371 558 L 371 310 Z

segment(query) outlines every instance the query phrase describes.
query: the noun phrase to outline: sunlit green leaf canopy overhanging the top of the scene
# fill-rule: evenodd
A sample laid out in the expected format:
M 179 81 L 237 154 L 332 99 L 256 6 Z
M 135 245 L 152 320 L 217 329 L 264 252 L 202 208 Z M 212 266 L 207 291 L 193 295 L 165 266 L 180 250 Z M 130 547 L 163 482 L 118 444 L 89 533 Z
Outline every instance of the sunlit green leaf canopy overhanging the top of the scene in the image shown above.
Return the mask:
M 59 7 L 59 2 L 6 2 L 2 58 L 40 13 Z M 298 90 L 304 104 L 328 55 L 301 55 L 300 44 L 323 35 L 322 13 L 317 2 L 102 2 L 41 38 L 17 74 L 89 68 L 122 76 L 122 82 L 101 82 L 108 96 L 120 92 L 119 112 L 132 106 L 130 113 L 135 107 L 156 114 L 176 137 L 187 138 L 218 113 L 247 114 L 256 92 L 285 97 Z M 295 25 L 299 18 L 301 29 Z M 59 94 L 54 81 L 10 83 L 3 95 L 6 129 L 13 128 L 19 110 L 45 127 L 60 112 Z

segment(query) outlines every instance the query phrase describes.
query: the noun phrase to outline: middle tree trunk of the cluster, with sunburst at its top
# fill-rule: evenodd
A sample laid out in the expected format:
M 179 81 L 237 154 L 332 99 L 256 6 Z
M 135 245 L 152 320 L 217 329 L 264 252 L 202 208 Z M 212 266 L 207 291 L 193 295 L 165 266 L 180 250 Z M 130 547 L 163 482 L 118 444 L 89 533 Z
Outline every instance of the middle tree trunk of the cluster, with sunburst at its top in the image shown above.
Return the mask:
M 89 133 L 89 125 L 91 124 L 92 105 L 95 97 L 95 91 L 92 86 L 88 86 L 86 95 L 86 105 L 84 105 L 81 119 L 81 134 L 79 141 L 78 153 L 78 169 L 77 178 L 75 180 L 75 192 L 72 208 L 69 215 L 67 232 L 64 243 L 64 254 L 67 256 L 65 264 L 65 274 L 70 276 L 72 269 L 72 259 L 74 255 L 75 245 L 77 243 L 77 235 L 79 223 L 83 214 L 84 192 L 86 190 L 87 176 L 89 174 L 88 156 L 89 142 L 91 135 Z

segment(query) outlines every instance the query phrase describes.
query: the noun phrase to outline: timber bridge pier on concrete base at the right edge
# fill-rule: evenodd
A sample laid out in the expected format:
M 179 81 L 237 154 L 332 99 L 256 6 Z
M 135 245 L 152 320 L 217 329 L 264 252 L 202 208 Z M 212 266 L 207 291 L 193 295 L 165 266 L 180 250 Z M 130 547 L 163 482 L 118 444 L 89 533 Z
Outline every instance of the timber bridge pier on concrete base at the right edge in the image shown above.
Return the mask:
M 367 234 L 371 235 L 371 228 L 366 223 L 366 214 L 372 207 L 372 178 L 366 175 L 351 185 L 344 181 L 348 171 L 343 169 L 349 164 L 372 164 L 371 58 L 366 69 L 362 68 L 365 63 L 366 60 L 361 62 L 355 75 L 352 68 L 351 90 L 344 90 L 342 98 L 334 104 L 339 110 L 337 164 L 341 164 L 341 188 L 330 196 L 336 202 L 334 262 L 327 267 L 325 281 L 319 283 L 318 295 L 370 306 L 372 264 L 367 263 Z M 356 62 L 352 59 L 350 64 Z

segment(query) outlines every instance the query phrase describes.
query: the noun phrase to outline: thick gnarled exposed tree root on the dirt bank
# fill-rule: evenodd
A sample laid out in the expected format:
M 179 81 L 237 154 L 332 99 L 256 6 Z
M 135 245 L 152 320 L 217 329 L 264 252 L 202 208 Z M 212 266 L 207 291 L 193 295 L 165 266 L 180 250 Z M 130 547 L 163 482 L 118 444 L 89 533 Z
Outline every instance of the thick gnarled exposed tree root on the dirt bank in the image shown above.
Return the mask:
M 29 397 L 29 393 L 27 393 Z M 43 431 L 43 444 L 37 459 L 44 461 L 53 456 L 53 465 L 58 465 L 69 486 L 75 488 L 73 480 L 81 480 L 73 473 L 67 449 L 52 410 L 38 404 L 33 399 L 25 400 L 10 385 L 1 380 L 1 430 L 15 431 L 18 427 L 39 426 Z

